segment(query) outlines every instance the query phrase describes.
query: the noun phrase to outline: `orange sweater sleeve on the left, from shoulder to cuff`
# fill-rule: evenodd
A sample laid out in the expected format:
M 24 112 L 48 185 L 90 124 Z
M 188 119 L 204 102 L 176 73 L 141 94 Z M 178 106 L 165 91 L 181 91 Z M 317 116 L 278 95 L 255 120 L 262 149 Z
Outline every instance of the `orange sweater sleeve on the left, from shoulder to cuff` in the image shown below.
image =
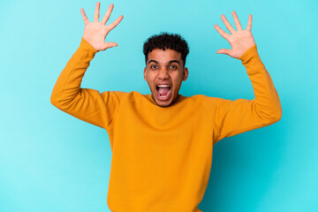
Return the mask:
M 117 92 L 100 93 L 98 90 L 80 87 L 96 52 L 87 41 L 81 39 L 79 49 L 57 79 L 50 102 L 73 117 L 108 130 L 119 103 Z

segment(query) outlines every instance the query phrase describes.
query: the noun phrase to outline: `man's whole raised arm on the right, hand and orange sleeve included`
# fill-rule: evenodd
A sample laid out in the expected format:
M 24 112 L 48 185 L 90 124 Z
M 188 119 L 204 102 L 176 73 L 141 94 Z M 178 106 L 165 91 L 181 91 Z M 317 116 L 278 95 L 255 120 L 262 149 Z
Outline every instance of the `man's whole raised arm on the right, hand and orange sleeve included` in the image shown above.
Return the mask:
M 269 72 L 258 55 L 256 44 L 251 34 L 252 15 L 249 16 L 246 30 L 242 30 L 236 13 L 233 17 L 238 31 L 222 16 L 223 22 L 231 35 L 226 34 L 220 27 L 216 30 L 231 43 L 232 49 L 220 49 L 216 53 L 223 53 L 238 58 L 246 67 L 248 77 L 254 88 L 254 100 L 238 99 L 235 101 L 221 99 L 213 111 L 215 125 L 219 130 L 216 141 L 224 137 L 244 133 L 266 125 L 276 123 L 282 117 L 282 108 L 270 78 Z

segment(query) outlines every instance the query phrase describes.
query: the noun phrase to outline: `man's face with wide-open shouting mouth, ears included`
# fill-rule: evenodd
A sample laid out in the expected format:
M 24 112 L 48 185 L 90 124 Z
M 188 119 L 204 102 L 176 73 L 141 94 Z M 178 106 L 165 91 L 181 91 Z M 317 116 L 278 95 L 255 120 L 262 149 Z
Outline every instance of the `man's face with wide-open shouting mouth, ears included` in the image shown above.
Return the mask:
M 188 70 L 181 53 L 172 49 L 153 49 L 148 53 L 144 78 L 148 82 L 152 99 L 162 107 L 178 100 L 182 81 L 186 81 Z

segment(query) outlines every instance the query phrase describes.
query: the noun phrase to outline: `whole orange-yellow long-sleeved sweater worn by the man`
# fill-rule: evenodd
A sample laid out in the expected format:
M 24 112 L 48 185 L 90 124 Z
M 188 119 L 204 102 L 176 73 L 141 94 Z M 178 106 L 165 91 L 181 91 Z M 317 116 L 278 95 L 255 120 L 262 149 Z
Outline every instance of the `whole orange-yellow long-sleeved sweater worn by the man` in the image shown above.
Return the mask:
M 213 145 L 235 134 L 276 123 L 282 109 L 256 45 L 239 57 L 254 100 L 206 95 L 160 107 L 151 95 L 100 93 L 80 88 L 97 51 L 83 38 L 57 79 L 51 103 L 110 136 L 107 203 L 114 212 L 197 212 L 208 186 Z

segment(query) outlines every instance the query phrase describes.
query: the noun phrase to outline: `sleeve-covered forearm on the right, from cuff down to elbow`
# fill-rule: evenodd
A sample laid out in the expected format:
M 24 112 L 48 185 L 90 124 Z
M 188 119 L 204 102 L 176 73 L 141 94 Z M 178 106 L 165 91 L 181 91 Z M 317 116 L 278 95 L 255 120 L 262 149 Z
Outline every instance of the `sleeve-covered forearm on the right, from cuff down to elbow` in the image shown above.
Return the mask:
M 282 116 L 282 107 L 273 81 L 257 52 L 256 45 L 246 50 L 239 57 L 246 67 L 246 72 L 252 81 L 255 98 L 251 102 L 254 117 L 266 124 L 276 123 Z

